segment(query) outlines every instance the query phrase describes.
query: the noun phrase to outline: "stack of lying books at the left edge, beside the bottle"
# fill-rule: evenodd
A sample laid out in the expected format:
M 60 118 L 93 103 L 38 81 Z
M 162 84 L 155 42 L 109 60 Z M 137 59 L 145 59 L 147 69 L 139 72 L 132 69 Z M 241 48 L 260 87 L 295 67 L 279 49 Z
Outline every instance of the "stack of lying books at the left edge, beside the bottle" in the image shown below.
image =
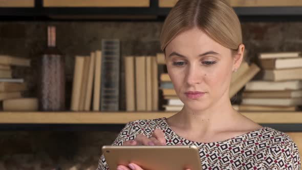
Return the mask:
M 28 90 L 23 78 L 15 78 L 12 68 L 29 67 L 30 59 L 0 55 L 0 102 L 3 111 L 36 110 L 37 99 L 23 98 Z M 27 103 L 27 104 L 24 104 Z

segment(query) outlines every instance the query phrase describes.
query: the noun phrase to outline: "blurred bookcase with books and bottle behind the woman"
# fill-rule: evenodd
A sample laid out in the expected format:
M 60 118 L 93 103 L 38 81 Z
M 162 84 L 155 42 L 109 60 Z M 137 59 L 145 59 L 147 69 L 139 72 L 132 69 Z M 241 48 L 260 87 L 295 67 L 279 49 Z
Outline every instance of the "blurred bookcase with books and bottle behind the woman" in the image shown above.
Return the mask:
M 159 43 L 176 2 L 0 1 L 0 169 L 95 169 L 126 122 L 180 110 Z M 234 108 L 302 151 L 302 1 L 229 2 L 247 50 Z

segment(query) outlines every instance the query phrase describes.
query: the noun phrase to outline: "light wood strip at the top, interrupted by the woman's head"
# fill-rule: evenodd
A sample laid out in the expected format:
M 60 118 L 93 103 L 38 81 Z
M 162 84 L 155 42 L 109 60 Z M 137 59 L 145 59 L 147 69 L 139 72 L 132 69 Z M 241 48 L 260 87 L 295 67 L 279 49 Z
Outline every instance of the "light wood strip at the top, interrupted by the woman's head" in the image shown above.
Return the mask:
M 301 0 L 228 0 L 232 7 L 302 7 Z M 172 8 L 178 0 L 159 0 L 160 8 Z

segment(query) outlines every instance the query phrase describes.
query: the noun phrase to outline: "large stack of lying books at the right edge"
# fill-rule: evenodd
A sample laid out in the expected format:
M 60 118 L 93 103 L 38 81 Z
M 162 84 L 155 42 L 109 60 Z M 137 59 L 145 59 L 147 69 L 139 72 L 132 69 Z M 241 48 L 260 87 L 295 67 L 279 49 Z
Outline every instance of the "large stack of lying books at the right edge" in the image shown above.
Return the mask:
M 301 53 L 260 53 L 258 58 L 263 78 L 246 84 L 239 110 L 296 111 L 302 105 Z

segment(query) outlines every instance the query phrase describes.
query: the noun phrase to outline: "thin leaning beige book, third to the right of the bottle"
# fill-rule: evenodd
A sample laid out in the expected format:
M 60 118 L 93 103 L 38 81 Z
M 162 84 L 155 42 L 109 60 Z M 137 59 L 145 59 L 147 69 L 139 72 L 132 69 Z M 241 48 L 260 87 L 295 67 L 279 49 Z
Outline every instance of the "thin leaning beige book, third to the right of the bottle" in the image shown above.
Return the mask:
M 94 66 L 95 66 L 95 52 L 90 53 L 90 63 L 87 80 L 87 92 L 85 96 L 84 111 L 90 111 L 91 99 L 92 99 L 92 87 L 94 79 Z

